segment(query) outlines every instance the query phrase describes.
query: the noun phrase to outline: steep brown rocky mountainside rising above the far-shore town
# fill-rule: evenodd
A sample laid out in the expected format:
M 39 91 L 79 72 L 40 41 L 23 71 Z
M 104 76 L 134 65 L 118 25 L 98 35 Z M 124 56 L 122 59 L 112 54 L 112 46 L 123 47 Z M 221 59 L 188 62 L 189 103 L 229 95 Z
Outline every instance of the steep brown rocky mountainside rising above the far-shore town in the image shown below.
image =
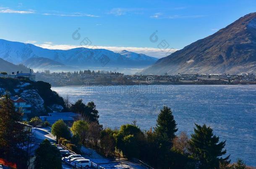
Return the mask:
M 256 73 L 256 13 L 159 59 L 144 74 Z

